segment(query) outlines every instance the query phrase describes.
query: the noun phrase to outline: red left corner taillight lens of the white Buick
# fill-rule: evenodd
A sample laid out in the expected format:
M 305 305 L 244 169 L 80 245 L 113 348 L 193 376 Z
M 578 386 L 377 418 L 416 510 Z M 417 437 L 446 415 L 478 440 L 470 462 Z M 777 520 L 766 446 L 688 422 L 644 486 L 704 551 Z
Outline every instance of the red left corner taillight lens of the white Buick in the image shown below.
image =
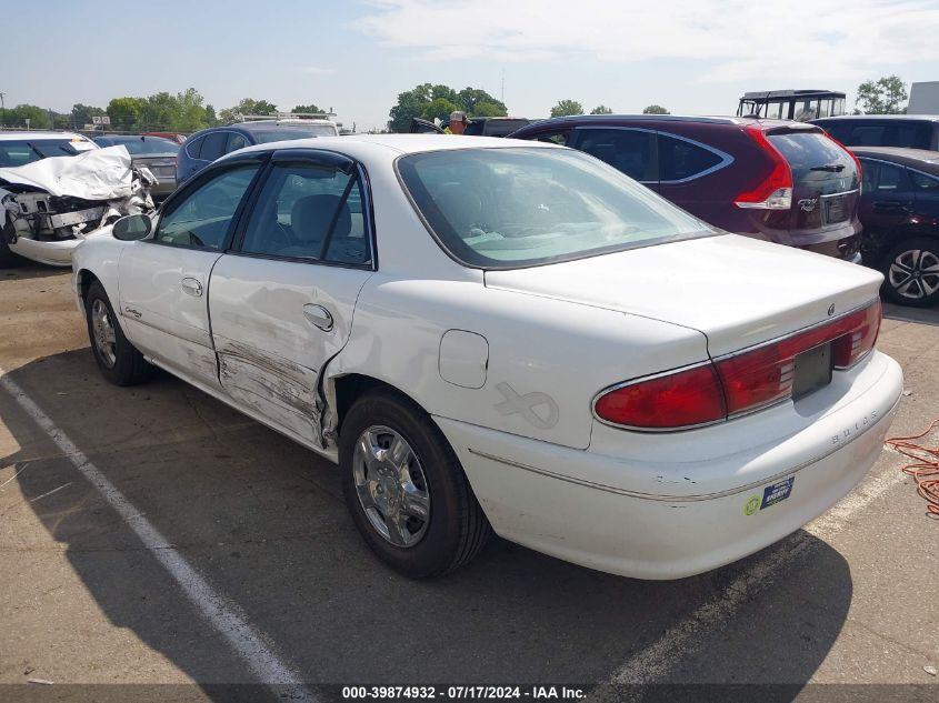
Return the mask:
M 615 389 L 597 400 L 595 411 L 607 422 L 648 430 L 687 428 L 727 416 L 711 364 Z

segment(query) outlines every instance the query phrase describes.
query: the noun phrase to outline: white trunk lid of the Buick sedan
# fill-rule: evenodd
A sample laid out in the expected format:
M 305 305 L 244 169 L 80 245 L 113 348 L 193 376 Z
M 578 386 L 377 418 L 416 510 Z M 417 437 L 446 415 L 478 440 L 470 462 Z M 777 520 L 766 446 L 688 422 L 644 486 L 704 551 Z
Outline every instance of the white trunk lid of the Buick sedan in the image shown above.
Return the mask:
M 736 234 L 487 271 L 486 285 L 691 328 L 719 356 L 873 300 L 877 271 Z

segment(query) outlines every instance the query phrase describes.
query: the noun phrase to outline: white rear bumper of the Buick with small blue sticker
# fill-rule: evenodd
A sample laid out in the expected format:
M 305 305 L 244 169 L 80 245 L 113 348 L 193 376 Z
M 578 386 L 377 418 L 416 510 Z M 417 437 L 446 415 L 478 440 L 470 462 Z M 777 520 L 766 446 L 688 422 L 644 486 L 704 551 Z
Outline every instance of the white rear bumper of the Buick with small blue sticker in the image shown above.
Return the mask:
M 661 446 L 660 456 L 643 462 L 436 420 L 500 535 L 600 571 L 678 579 L 772 544 L 863 478 L 902 391 L 899 365 L 873 356 L 846 380 L 860 390 L 837 410 L 752 451 L 738 451 L 750 440 L 741 423 L 736 443 L 722 440 L 723 455 L 699 462 L 668 459 L 676 435 L 642 438 Z M 621 434 L 629 451 L 635 435 Z M 785 492 L 790 480 L 788 498 L 763 505 L 773 486 Z

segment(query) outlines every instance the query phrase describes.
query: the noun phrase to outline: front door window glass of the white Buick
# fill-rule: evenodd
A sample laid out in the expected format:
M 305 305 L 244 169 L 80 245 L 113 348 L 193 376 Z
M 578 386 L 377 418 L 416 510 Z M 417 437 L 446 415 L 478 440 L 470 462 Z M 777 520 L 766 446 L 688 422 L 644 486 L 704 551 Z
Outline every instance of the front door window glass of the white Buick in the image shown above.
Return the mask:
M 177 247 L 221 249 L 258 168 L 256 163 L 239 167 L 202 183 L 160 218 L 156 240 Z

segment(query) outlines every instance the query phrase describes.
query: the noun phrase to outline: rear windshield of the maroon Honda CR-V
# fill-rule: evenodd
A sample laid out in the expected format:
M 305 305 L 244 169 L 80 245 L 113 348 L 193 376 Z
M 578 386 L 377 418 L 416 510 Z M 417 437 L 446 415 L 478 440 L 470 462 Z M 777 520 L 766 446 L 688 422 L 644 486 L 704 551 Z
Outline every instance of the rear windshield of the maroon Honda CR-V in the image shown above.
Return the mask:
M 770 134 L 770 143 L 789 162 L 796 185 L 815 185 L 822 192 L 859 187 L 858 167 L 851 154 L 819 132 Z

